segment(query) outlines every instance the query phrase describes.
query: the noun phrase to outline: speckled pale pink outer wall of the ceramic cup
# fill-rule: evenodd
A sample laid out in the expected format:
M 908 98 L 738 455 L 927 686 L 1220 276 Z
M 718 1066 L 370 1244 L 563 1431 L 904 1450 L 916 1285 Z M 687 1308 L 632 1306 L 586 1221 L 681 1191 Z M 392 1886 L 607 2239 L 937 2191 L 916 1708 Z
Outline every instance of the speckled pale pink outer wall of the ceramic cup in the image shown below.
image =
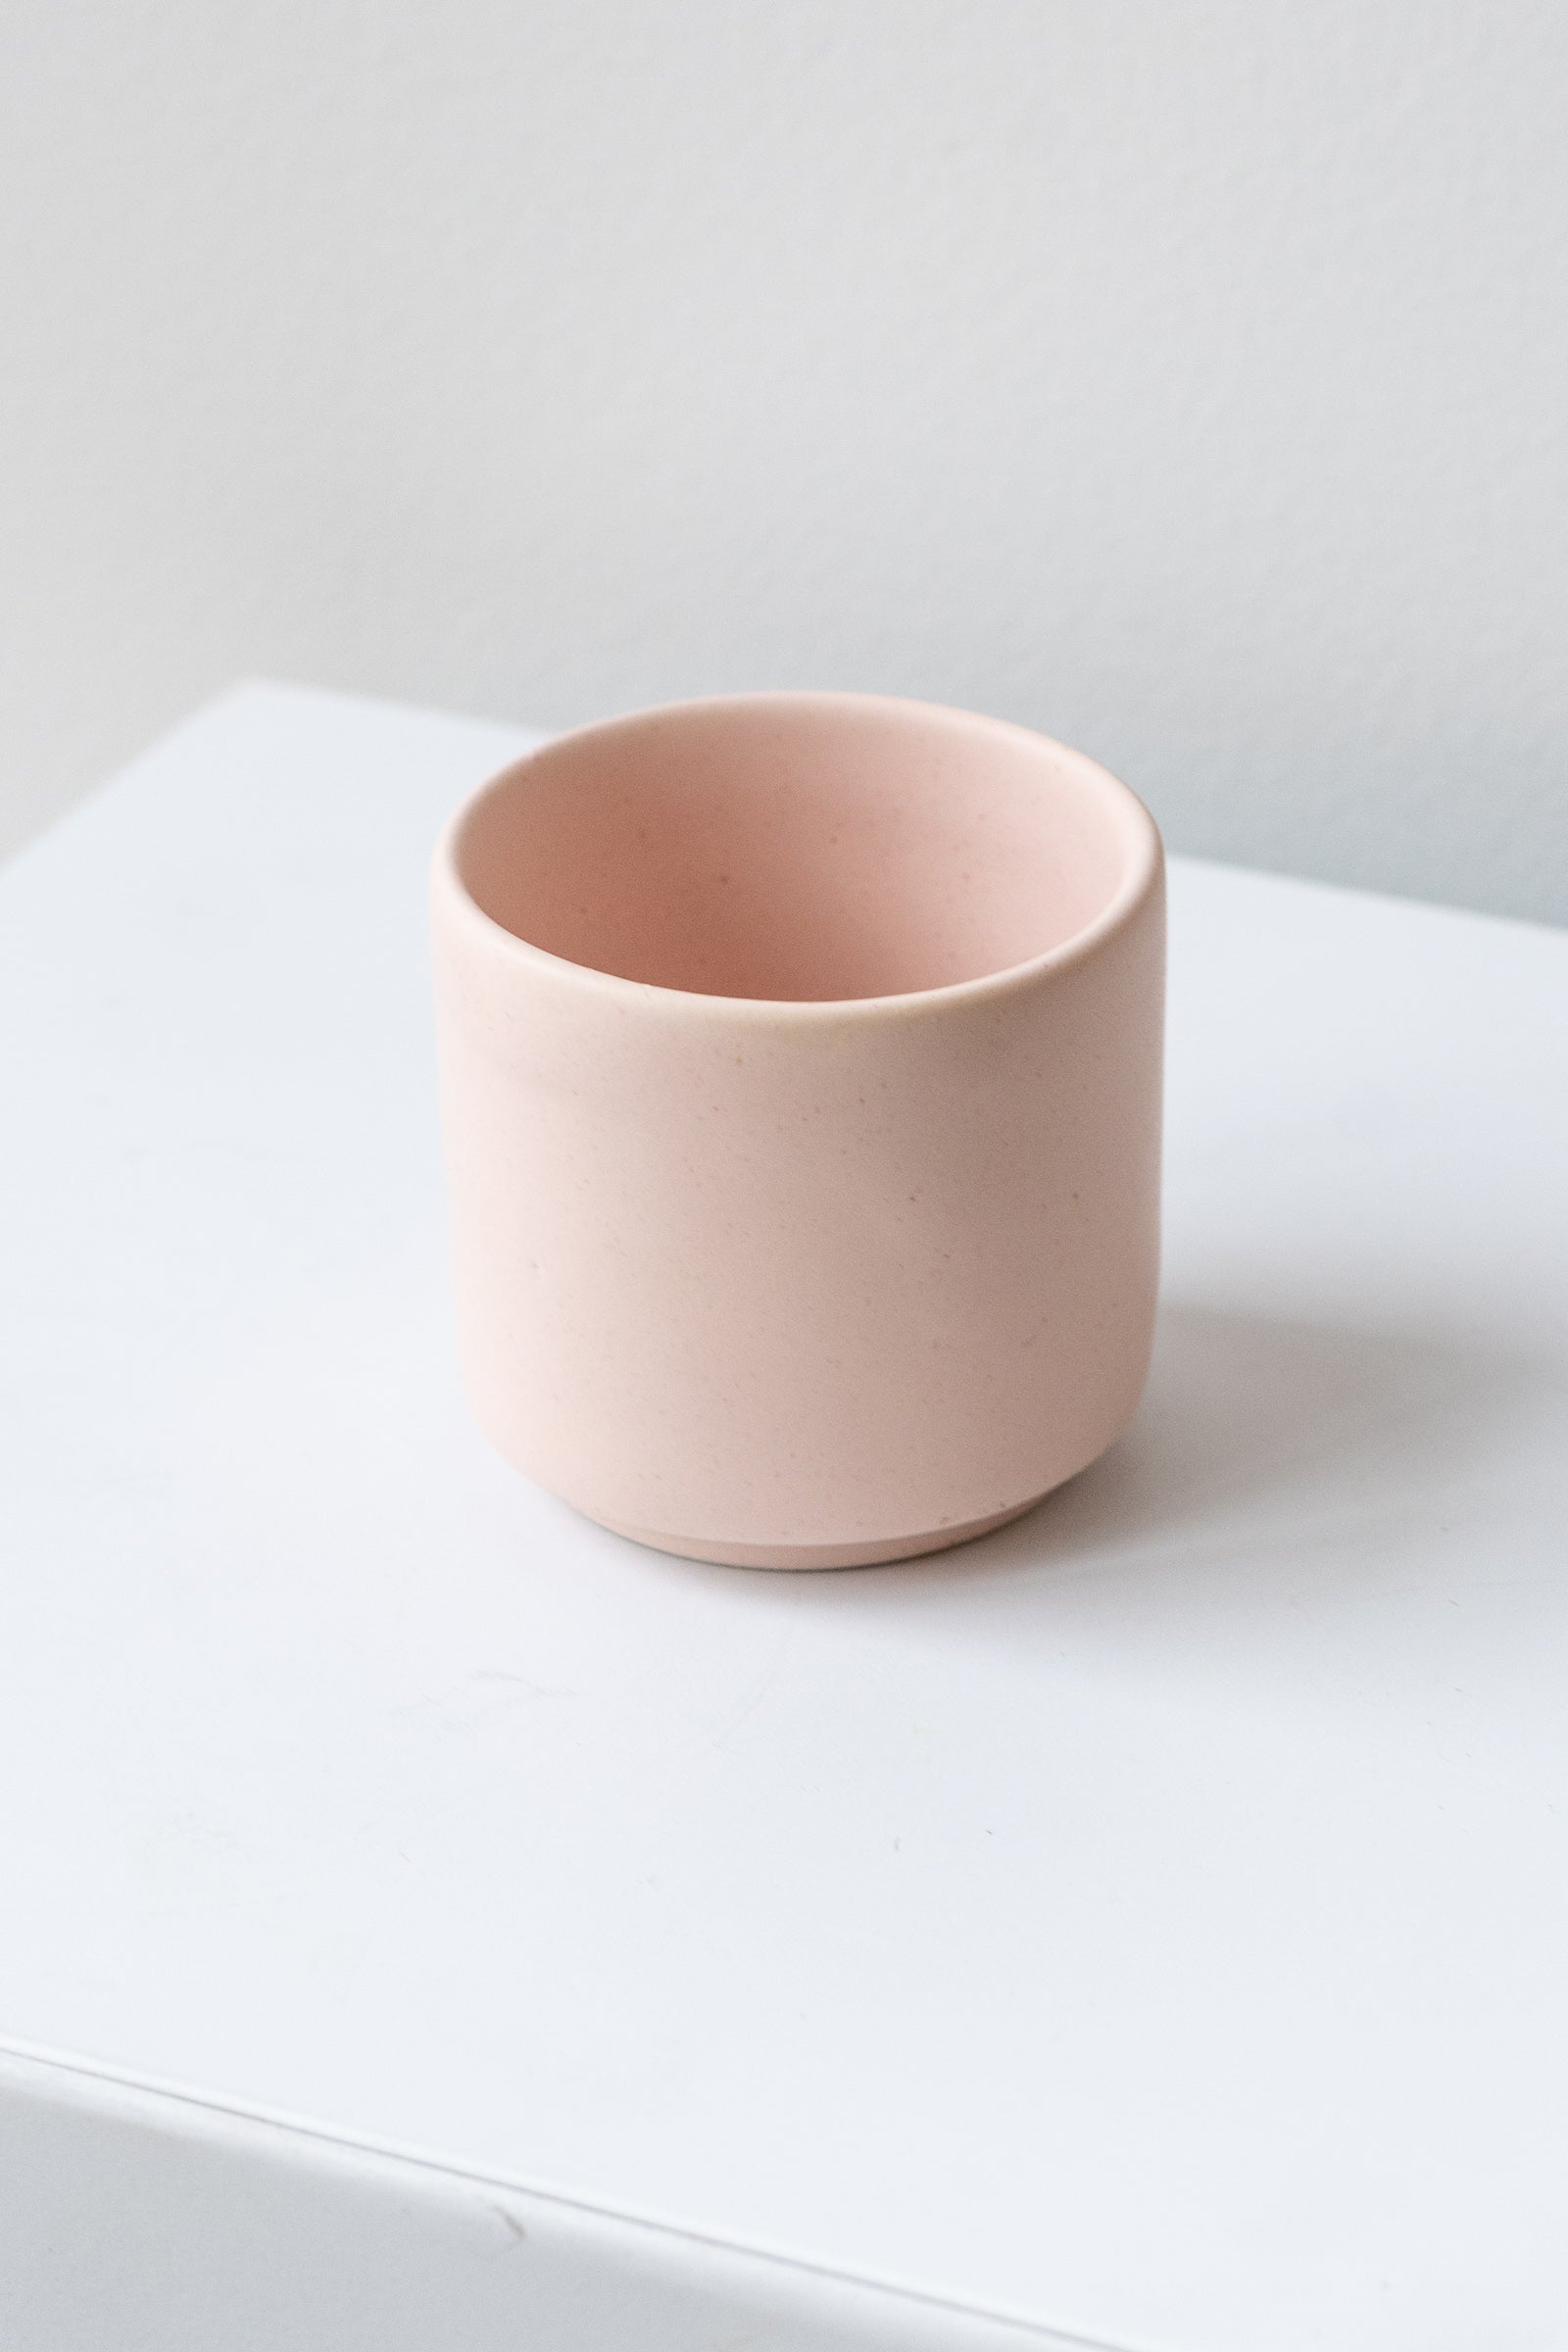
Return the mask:
M 458 1350 L 508 1461 L 708 1557 L 931 1548 L 1143 1390 L 1164 887 L 1001 983 L 762 1004 L 520 948 L 437 863 Z

